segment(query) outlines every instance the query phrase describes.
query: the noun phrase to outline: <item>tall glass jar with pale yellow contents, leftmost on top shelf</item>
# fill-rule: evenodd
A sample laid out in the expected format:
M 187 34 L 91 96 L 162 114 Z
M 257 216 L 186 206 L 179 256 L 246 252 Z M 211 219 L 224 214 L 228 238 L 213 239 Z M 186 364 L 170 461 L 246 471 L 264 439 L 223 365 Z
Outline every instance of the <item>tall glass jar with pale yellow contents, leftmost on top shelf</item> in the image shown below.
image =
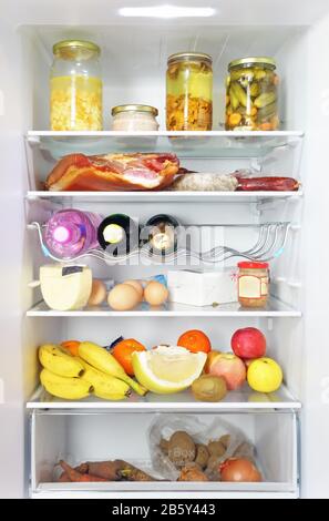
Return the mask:
M 53 45 L 50 73 L 50 126 L 54 131 L 100 131 L 102 79 L 100 48 L 82 40 Z

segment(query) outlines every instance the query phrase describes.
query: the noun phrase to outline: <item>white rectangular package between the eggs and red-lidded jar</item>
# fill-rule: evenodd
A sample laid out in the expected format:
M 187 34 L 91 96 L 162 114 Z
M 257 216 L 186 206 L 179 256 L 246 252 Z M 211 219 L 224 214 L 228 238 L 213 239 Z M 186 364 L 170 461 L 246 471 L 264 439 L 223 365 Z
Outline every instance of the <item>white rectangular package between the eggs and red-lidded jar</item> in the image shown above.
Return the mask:
M 237 302 L 236 268 L 218 272 L 189 269 L 167 274 L 169 300 L 191 306 L 212 306 Z

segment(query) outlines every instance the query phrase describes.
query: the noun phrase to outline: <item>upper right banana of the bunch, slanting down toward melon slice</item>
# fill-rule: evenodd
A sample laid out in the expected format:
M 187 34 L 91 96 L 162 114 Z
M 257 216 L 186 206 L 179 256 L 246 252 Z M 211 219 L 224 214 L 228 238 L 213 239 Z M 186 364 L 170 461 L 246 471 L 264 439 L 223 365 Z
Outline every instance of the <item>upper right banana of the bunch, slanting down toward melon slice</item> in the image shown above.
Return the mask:
M 123 367 L 115 360 L 114 356 L 110 355 L 103 347 L 97 346 L 97 344 L 82 341 L 79 346 L 79 355 L 96 369 L 125 381 L 137 395 L 144 396 L 147 392 L 147 389 L 125 374 Z

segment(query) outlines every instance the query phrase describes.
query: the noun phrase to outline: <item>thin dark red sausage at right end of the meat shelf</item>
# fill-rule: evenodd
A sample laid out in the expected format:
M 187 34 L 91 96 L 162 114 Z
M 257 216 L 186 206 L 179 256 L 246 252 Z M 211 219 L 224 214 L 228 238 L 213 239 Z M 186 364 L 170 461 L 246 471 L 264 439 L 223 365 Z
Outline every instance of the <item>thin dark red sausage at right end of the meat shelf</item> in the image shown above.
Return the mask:
M 292 177 L 241 177 L 236 175 L 238 186 L 243 192 L 295 192 L 299 183 Z

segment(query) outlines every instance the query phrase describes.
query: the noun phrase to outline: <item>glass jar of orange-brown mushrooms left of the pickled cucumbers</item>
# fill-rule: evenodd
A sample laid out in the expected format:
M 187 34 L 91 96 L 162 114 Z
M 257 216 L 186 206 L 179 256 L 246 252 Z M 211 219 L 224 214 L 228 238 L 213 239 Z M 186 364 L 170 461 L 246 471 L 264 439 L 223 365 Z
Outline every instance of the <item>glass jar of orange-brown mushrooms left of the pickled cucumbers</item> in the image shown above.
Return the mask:
M 181 52 L 168 58 L 166 126 L 169 131 L 208 131 L 213 125 L 212 58 Z

